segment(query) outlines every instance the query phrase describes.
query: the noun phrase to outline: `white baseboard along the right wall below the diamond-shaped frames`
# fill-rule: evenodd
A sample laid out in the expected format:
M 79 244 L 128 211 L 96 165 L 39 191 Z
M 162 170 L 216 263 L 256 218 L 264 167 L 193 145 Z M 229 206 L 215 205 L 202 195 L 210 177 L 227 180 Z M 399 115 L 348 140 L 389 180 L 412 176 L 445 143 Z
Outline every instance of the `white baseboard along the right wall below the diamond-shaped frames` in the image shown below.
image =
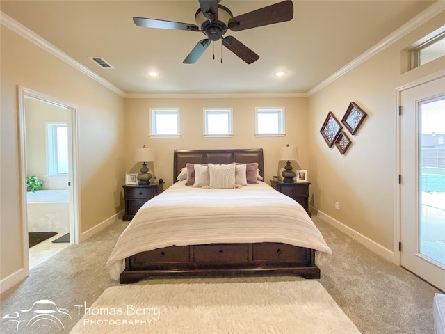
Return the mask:
M 389 250 L 388 248 L 383 247 L 382 245 L 376 243 L 375 241 L 369 239 L 368 237 L 365 237 L 363 234 L 360 234 L 359 232 L 353 230 L 352 228 L 337 221 L 337 219 L 328 216 L 324 212 L 321 212 L 318 209 L 316 209 L 316 212 L 317 216 L 323 219 L 323 221 L 334 226 L 334 228 L 337 228 L 337 230 L 343 232 L 344 234 L 348 234 L 350 237 L 357 240 L 360 244 L 362 244 L 369 250 L 373 251 L 373 253 L 385 257 L 385 259 L 387 259 L 390 262 L 393 262 L 394 264 L 400 265 L 398 254 L 394 253 L 392 250 Z

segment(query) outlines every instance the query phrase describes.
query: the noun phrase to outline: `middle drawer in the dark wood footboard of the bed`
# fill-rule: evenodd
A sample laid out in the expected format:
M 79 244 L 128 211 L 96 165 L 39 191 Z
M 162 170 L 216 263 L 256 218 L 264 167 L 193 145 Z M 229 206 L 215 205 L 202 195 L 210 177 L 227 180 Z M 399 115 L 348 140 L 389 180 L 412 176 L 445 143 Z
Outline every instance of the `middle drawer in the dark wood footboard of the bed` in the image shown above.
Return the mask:
M 194 262 L 248 262 L 248 244 L 211 244 L 193 246 Z

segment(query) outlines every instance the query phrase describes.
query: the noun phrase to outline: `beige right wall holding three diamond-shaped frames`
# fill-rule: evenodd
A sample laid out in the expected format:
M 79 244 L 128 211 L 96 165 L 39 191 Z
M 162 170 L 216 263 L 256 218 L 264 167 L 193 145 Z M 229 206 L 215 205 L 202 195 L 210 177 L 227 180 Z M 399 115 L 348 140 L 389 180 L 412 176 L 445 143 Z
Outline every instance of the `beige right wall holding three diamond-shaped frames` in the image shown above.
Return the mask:
M 437 15 L 309 97 L 312 205 L 390 252 L 397 237 L 396 88 L 445 68 L 442 57 L 401 74 L 401 51 L 444 22 L 445 13 Z M 348 134 L 353 145 L 342 156 L 319 131 L 329 111 L 341 120 L 351 101 L 368 116 L 355 136 Z

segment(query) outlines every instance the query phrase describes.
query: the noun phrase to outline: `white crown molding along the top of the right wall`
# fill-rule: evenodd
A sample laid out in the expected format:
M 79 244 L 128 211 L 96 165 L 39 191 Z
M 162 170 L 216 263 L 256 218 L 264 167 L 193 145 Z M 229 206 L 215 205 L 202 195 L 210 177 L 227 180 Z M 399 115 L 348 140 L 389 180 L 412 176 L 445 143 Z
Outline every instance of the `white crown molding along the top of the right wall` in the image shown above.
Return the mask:
M 404 35 L 407 35 L 407 33 L 410 33 L 411 31 L 419 27 L 421 24 L 424 24 L 429 19 L 435 17 L 444 10 L 445 10 L 445 1 L 437 0 L 437 2 L 433 3 L 430 7 L 426 8 L 426 10 L 423 10 L 422 13 L 416 15 L 415 17 L 410 19 L 410 21 L 403 24 L 403 26 L 401 26 L 399 29 L 388 35 L 387 38 L 381 40 L 376 45 L 371 47 L 371 49 L 365 51 L 363 54 L 361 54 L 353 61 L 348 63 L 348 65 L 342 67 L 339 71 L 335 72 L 330 77 L 327 77 L 325 80 L 321 81 L 320 84 L 318 84 L 317 86 L 309 90 L 309 92 L 307 92 L 307 96 L 311 96 L 312 94 L 318 92 L 318 90 L 321 90 L 327 85 L 332 84 L 332 82 L 339 79 L 339 77 L 341 77 L 343 74 L 346 74 L 350 70 L 353 70 L 353 68 L 364 63 L 369 58 L 375 56 L 375 54 L 378 54 L 386 47 L 389 47 L 389 45 L 393 44 L 394 42 L 402 38 Z

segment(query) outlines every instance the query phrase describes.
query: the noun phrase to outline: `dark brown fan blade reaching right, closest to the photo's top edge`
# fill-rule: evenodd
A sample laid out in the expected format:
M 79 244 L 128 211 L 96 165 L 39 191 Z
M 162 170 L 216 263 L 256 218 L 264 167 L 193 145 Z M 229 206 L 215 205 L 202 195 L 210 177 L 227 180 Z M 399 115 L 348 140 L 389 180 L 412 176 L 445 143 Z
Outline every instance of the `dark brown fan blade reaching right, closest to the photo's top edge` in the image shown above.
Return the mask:
M 232 17 L 232 19 L 229 19 L 228 26 L 232 31 L 241 31 L 256 28 L 257 26 L 290 21 L 292 18 L 293 3 L 291 0 L 286 0 Z

